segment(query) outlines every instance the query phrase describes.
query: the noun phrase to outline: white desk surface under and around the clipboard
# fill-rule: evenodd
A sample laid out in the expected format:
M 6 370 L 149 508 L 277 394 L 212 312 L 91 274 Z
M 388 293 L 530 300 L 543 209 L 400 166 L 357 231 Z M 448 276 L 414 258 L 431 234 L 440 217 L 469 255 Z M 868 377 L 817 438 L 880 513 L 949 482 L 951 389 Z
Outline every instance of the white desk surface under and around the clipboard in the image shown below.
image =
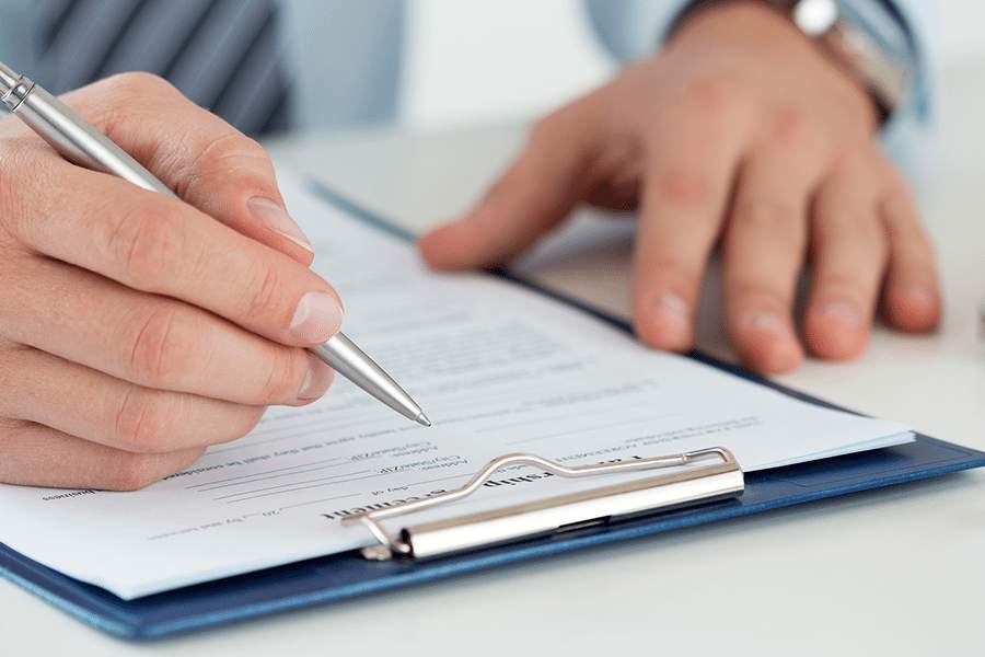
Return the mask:
M 924 204 L 941 254 L 942 330 L 907 337 L 880 328 L 858 361 L 810 361 L 781 379 L 978 449 L 985 132 L 957 126 L 977 126 L 985 115 L 985 97 L 960 85 L 982 70 L 943 79 L 941 124 L 955 128 L 941 130 Z M 273 151 L 420 229 L 465 208 L 522 138 L 517 127 L 373 132 L 296 139 Z M 578 223 L 524 266 L 546 285 L 625 314 L 625 228 L 592 217 Z M 728 356 L 719 326 L 715 304 L 706 304 L 699 344 Z M 973 654 L 985 645 L 974 634 L 985 621 L 983 596 L 985 473 L 976 472 L 150 645 L 106 637 L 0 583 L 0 652 L 588 655 L 616 645 L 668 654 Z

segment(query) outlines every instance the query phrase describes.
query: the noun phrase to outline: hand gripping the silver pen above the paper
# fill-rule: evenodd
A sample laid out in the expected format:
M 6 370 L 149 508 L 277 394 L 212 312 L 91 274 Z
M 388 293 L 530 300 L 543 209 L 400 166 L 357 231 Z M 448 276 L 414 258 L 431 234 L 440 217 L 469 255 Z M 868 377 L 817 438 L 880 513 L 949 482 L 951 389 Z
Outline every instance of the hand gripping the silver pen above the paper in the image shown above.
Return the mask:
M 65 100 L 187 204 L 0 120 L 0 482 L 139 488 L 320 397 L 343 312 L 255 141 L 146 74 Z

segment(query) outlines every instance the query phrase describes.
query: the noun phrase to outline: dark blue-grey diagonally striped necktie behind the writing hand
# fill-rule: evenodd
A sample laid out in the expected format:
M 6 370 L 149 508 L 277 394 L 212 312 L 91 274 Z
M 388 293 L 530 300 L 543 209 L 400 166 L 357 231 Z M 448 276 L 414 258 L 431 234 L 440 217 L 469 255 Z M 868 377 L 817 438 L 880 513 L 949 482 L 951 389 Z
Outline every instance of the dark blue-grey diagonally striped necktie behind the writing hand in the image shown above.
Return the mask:
M 244 132 L 283 129 L 276 10 L 274 0 L 49 0 L 37 79 L 60 93 L 148 71 Z

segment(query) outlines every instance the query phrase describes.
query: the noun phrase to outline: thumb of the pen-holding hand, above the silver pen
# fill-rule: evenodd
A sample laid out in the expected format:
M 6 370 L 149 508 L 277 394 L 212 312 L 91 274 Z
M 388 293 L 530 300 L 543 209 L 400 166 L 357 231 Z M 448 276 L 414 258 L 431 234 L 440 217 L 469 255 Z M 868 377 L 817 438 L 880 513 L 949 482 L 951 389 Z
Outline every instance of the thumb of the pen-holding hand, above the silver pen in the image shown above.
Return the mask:
M 63 100 L 206 215 L 311 264 L 311 243 L 288 215 L 263 147 L 163 79 L 124 73 Z

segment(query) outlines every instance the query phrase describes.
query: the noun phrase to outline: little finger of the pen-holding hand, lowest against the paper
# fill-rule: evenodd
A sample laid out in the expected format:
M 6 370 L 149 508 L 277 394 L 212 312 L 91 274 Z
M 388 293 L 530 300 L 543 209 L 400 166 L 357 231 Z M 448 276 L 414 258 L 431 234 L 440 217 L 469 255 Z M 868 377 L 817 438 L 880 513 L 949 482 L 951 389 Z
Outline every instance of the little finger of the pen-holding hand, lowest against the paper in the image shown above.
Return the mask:
M 106 491 L 143 488 L 187 468 L 204 451 L 134 453 L 19 420 L 0 420 L 0 482 Z

